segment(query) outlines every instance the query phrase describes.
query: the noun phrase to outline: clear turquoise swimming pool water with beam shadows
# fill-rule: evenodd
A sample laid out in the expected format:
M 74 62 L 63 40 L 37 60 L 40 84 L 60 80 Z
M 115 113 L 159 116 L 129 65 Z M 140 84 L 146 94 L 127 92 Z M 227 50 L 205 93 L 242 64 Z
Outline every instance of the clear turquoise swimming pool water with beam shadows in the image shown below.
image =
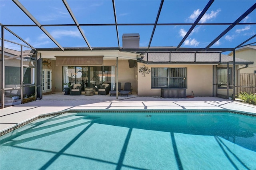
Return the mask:
M 1 170 L 256 169 L 256 117 L 66 113 L 1 137 Z

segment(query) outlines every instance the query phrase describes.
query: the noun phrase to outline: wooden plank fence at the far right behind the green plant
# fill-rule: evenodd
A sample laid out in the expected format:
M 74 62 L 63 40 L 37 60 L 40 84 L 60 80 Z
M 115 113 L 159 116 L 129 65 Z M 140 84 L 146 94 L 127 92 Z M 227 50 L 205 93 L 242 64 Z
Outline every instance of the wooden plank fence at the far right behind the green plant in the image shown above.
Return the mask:
M 240 74 L 240 86 L 237 86 L 237 92 L 256 93 L 256 74 L 242 73 Z

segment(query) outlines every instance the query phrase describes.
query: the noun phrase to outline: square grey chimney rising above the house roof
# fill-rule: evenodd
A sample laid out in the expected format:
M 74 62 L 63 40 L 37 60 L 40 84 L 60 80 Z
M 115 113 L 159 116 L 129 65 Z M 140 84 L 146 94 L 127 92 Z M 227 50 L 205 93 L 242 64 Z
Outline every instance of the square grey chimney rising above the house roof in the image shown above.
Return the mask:
M 140 34 L 123 34 L 123 48 L 139 48 Z

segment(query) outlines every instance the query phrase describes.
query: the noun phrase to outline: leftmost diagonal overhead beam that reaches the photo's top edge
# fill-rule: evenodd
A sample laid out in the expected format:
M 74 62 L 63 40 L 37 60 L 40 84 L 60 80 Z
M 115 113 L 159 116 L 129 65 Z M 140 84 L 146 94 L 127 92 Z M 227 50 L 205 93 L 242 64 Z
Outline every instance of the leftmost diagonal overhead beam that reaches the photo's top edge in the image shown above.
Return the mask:
M 46 34 L 62 51 L 64 51 L 64 48 L 52 37 L 52 35 L 34 18 L 30 12 L 18 1 L 18 0 L 12 0 L 43 32 Z

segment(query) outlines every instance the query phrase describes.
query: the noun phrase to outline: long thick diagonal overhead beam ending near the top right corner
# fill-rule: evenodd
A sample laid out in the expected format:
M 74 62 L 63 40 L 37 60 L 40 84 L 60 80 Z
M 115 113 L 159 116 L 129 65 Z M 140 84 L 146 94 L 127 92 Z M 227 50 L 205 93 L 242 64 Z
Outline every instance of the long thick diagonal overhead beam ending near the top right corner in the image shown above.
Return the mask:
M 233 22 L 232 25 L 230 25 L 224 32 L 222 32 L 215 40 L 213 40 L 207 47 L 205 47 L 205 50 L 209 49 L 214 43 L 216 43 L 220 38 L 222 38 L 227 32 L 229 32 L 234 26 L 236 26 L 240 21 L 242 21 L 248 14 L 250 14 L 253 10 L 256 8 L 256 3 L 253 4 L 244 14 L 242 14 L 235 22 Z

